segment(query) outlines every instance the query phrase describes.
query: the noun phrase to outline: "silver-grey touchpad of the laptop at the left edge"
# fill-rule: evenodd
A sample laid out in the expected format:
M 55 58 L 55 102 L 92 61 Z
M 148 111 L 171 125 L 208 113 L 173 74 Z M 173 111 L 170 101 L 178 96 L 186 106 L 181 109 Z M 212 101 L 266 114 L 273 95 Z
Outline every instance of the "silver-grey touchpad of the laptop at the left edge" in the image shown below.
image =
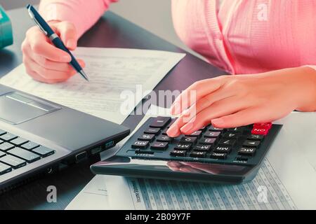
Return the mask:
M 58 106 L 32 99 L 18 92 L 10 92 L 0 97 L 0 119 L 13 125 L 18 125 L 58 109 L 60 109 Z

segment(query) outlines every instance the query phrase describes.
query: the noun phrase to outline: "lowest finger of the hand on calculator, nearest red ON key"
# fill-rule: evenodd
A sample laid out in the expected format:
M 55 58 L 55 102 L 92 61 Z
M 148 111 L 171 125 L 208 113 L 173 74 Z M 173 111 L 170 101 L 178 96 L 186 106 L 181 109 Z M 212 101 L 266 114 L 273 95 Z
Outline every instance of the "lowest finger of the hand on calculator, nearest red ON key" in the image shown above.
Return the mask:
M 289 111 L 290 113 L 290 111 Z M 237 113 L 230 114 L 212 120 L 212 124 L 215 127 L 230 128 L 239 127 L 245 125 L 251 125 L 254 123 L 268 123 L 273 120 L 277 120 L 286 114 L 279 116 L 272 116 L 270 109 L 263 109 L 261 107 L 254 107 L 238 111 Z

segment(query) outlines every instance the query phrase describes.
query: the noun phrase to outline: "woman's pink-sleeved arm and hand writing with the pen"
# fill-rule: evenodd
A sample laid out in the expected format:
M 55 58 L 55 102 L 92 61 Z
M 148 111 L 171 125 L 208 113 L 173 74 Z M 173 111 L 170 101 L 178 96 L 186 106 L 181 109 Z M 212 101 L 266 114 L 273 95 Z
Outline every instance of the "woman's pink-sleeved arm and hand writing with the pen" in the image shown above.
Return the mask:
M 66 47 L 74 50 L 78 38 L 113 1 L 117 0 L 42 0 L 39 11 Z M 70 55 L 55 48 L 36 26 L 29 28 L 21 48 L 25 70 L 35 80 L 58 83 L 77 73 L 68 63 Z M 84 68 L 84 61 L 78 59 L 78 62 Z

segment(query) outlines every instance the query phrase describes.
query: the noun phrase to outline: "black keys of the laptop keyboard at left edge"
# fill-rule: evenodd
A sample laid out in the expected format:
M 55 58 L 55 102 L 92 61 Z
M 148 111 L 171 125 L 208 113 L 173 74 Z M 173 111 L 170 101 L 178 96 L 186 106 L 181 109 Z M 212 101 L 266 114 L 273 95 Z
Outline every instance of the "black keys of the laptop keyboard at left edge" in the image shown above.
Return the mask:
M 53 155 L 51 148 L 0 130 L 0 175 Z

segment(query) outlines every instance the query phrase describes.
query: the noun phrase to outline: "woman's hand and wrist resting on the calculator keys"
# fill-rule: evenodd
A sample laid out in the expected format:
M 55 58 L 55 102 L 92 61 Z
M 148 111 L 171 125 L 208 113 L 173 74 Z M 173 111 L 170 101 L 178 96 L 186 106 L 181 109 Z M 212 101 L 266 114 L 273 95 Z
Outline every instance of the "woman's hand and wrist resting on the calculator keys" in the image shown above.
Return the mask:
M 190 134 L 210 123 L 221 128 L 267 123 L 295 109 L 316 111 L 315 86 L 316 72 L 309 67 L 201 80 L 171 106 L 180 117 L 167 134 Z

